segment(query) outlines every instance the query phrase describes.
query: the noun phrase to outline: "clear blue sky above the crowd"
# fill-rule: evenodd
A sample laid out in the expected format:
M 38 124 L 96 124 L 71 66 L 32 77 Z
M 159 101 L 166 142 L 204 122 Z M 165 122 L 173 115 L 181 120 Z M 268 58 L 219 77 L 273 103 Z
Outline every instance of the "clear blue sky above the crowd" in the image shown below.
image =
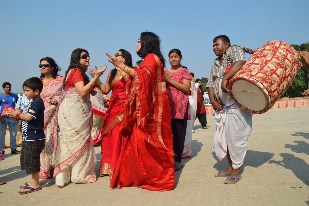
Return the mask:
M 39 61 L 56 60 L 64 75 L 71 52 L 90 53 L 90 68 L 107 65 L 105 53 L 128 50 L 133 62 L 141 32 L 161 38 L 163 55 L 181 50 L 182 64 L 197 78 L 209 77 L 216 56 L 213 38 L 225 34 L 231 44 L 257 49 L 270 40 L 309 41 L 309 1 L 1 1 L 1 85 L 21 92 L 23 81 L 39 77 Z M 246 56 L 248 59 L 249 56 Z

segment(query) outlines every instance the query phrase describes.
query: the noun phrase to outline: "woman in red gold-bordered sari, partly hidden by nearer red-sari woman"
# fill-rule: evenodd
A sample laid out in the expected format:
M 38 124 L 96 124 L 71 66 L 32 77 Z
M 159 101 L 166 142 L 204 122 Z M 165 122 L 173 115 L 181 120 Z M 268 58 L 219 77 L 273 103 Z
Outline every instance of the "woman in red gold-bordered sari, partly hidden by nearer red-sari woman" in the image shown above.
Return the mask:
M 132 67 L 132 56 L 124 49 L 117 51 L 116 59 L 128 67 Z M 90 75 L 94 75 L 94 70 L 90 70 Z M 101 166 L 100 176 L 109 175 L 110 180 L 117 165 L 121 147 L 125 142 L 125 137 L 120 134 L 121 120 L 125 112 L 125 84 L 129 75 L 122 76 L 116 68 L 109 72 L 106 84 L 100 83 L 98 87 L 104 94 L 112 90 L 109 107 L 105 115 L 102 128 Z

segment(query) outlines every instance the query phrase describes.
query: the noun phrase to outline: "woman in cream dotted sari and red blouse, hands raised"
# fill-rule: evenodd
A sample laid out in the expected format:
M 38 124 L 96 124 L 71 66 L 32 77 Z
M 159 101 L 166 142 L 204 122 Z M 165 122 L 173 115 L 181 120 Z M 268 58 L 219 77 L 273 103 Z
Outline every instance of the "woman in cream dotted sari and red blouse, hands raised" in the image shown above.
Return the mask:
M 72 52 L 70 66 L 59 99 L 53 137 L 53 162 L 56 185 L 64 187 L 74 183 L 95 182 L 97 159 L 91 139 L 92 87 L 98 84 L 102 70 L 95 69 L 95 76 L 89 81 L 86 75 L 89 67 L 89 53 L 78 48 Z

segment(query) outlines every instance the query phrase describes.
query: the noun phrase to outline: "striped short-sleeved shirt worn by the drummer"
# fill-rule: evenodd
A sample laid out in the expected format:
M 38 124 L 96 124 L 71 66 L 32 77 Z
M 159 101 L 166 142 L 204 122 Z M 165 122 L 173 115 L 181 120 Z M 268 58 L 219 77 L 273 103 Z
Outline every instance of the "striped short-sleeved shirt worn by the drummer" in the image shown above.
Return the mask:
M 208 87 L 214 88 L 214 98 L 222 106 L 223 106 L 223 103 L 219 97 L 219 92 L 222 92 L 222 90 L 221 90 L 221 85 L 219 83 L 220 83 L 220 79 L 223 78 L 223 74 L 227 67 L 226 51 L 223 53 L 223 61 L 222 61 L 221 66 L 220 66 L 219 57 L 214 60 L 214 64 L 212 65 L 211 70 L 210 70 L 210 77 L 206 85 L 206 88 Z M 232 46 L 229 51 L 229 55 L 232 59 L 232 64 L 236 61 L 245 61 L 245 52 L 239 46 Z

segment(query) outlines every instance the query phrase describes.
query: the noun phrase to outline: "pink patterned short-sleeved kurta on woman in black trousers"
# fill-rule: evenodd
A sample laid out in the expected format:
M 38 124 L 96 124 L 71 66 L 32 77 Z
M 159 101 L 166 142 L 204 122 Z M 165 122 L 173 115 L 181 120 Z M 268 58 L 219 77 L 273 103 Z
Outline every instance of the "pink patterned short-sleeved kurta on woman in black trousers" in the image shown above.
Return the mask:
M 185 68 L 180 68 L 180 70 L 173 73 L 168 70 L 164 70 L 164 72 L 169 74 L 172 80 L 179 83 L 182 83 L 183 79 L 191 80 L 190 72 Z M 187 105 L 189 103 L 188 93 L 176 89 L 168 82 L 166 83 L 166 89 L 168 92 L 168 100 L 171 105 L 171 118 L 184 119 L 184 114 L 186 113 Z M 188 120 L 191 120 L 190 109 L 188 109 Z

